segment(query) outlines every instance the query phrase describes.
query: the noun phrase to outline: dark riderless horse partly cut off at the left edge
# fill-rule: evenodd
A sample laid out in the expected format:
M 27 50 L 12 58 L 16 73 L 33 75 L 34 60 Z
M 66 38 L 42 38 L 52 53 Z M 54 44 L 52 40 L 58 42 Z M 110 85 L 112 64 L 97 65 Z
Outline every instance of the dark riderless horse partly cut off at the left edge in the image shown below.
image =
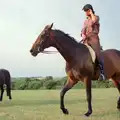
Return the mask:
M 0 69 L 0 88 L 1 88 L 0 101 L 2 101 L 2 99 L 3 99 L 4 85 L 6 85 L 7 96 L 9 96 L 9 99 L 12 99 L 10 73 L 6 69 Z

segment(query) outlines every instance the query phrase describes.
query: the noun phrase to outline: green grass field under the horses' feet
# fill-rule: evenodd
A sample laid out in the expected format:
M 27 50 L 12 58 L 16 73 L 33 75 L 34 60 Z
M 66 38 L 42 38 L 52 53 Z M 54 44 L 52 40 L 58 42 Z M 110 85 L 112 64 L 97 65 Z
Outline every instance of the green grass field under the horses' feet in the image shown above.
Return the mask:
M 119 93 L 115 88 L 93 89 L 93 114 L 88 120 L 120 120 L 116 109 Z M 65 105 L 70 114 L 63 115 L 59 109 L 60 90 L 12 91 L 13 100 L 6 94 L 0 103 L 0 120 L 84 120 L 87 110 L 85 90 L 70 90 Z

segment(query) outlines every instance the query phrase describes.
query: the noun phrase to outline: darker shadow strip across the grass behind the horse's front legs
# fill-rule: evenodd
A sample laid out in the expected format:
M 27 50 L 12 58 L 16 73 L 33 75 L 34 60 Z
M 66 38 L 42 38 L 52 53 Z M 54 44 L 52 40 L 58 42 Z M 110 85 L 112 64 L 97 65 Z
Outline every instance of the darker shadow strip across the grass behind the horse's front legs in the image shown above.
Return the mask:
M 65 100 L 65 104 L 77 104 L 84 103 L 85 100 Z M 60 100 L 11 100 L 3 101 L 0 103 L 0 107 L 12 107 L 12 106 L 39 106 L 39 105 L 59 105 Z

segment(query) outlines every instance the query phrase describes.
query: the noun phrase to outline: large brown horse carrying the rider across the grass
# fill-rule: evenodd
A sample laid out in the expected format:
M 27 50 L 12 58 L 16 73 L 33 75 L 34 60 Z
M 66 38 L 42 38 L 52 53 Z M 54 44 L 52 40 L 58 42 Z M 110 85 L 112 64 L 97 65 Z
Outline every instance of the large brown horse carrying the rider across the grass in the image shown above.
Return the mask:
M 64 95 L 78 81 L 83 81 L 86 85 L 86 95 L 88 102 L 88 111 L 85 116 L 92 114 L 92 93 L 91 82 L 99 77 L 97 62 L 93 63 L 88 47 L 78 43 L 74 38 L 61 30 L 52 29 L 53 24 L 46 25 L 30 50 L 33 56 L 44 52 L 45 48 L 55 47 L 66 60 L 66 73 L 68 80 L 60 93 L 60 108 L 64 114 L 68 110 L 64 106 Z M 120 51 L 115 49 L 104 50 L 101 52 L 104 56 L 105 74 L 107 79 L 112 79 L 118 91 L 120 92 Z M 120 109 L 120 97 L 117 102 L 117 108 Z

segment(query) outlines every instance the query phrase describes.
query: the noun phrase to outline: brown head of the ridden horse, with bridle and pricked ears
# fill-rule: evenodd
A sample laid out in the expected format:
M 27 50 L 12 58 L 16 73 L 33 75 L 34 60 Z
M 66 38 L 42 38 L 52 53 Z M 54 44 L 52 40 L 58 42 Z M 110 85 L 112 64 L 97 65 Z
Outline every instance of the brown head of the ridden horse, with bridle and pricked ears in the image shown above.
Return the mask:
M 52 40 L 51 40 L 52 26 L 53 23 L 51 25 L 45 26 L 43 31 L 37 37 L 35 43 L 32 45 L 32 48 L 30 50 L 30 53 L 33 56 L 37 56 L 37 54 L 43 52 L 45 48 L 52 46 Z

